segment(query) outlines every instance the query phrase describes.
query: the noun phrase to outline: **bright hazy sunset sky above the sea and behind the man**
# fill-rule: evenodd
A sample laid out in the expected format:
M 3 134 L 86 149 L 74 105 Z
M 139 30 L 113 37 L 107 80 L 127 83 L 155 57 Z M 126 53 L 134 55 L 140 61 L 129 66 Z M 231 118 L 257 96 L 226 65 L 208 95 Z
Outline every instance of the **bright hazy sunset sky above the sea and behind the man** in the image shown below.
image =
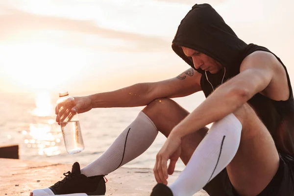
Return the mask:
M 174 77 L 171 48 L 195 3 L 210 3 L 294 81 L 294 0 L 0 0 L 0 93 L 102 92 Z

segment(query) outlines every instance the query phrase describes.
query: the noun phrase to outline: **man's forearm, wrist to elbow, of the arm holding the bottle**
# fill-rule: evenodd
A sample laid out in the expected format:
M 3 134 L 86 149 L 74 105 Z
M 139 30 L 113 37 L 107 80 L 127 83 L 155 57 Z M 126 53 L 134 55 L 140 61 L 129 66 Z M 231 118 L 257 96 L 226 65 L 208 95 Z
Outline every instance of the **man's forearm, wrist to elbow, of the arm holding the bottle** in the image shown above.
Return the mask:
M 93 108 L 144 106 L 153 100 L 149 83 L 138 83 L 116 91 L 90 95 Z

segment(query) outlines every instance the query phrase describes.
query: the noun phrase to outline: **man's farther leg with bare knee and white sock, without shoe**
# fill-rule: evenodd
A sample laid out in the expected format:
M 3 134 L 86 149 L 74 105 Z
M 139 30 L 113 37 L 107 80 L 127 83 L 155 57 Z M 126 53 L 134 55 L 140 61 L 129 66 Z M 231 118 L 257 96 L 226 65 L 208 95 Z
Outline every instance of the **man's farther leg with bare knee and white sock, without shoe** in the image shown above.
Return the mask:
M 142 154 L 153 143 L 157 129 L 168 136 L 172 128 L 188 114 L 171 99 L 152 101 L 97 160 L 81 170 L 82 174 L 94 176 L 113 172 Z M 183 140 L 181 159 L 184 164 L 188 163 L 207 130 L 203 128 Z

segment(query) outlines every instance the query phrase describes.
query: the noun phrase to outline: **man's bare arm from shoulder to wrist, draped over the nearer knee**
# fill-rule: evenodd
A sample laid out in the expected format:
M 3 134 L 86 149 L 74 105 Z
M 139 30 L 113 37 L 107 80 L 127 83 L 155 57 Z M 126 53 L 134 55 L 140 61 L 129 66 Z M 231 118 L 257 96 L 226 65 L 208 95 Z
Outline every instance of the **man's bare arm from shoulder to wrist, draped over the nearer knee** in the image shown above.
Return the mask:
M 277 67 L 268 52 L 254 52 L 241 64 L 240 73 L 217 88 L 190 115 L 174 127 L 172 134 L 183 137 L 236 111 L 272 80 Z

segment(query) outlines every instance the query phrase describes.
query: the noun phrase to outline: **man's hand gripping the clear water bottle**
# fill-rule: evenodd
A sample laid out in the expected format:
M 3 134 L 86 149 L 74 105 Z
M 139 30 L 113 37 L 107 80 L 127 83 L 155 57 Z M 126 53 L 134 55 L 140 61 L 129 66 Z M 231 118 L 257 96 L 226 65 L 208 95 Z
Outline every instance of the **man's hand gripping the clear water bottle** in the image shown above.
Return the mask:
M 66 105 L 63 105 L 59 111 L 57 106 L 55 107 L 56 122 L 60 125 L 60 121 L 62 122 L 65 119 L 71 119 L 75 113 L 84 113 L 91 109 L 91 98 L 88 96 L 74 97 L 74 100 L 69 101 Z

